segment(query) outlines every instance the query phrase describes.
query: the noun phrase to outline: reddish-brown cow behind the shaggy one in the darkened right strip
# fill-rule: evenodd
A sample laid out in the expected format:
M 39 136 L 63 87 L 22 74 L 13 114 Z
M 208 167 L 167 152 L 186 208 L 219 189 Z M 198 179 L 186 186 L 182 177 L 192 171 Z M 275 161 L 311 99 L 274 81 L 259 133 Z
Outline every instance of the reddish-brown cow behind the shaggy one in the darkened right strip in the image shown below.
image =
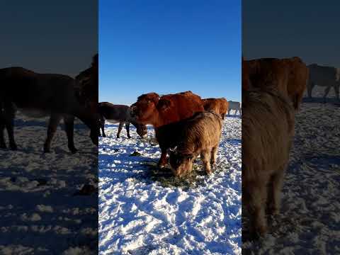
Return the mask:
M 275 85 L 282 94 L 288 93 L 295 110 L 299 110 L 308 79 L 308 68 L 300 57 L 263 58 L 246 61 L 246 64 L 249 88 Z

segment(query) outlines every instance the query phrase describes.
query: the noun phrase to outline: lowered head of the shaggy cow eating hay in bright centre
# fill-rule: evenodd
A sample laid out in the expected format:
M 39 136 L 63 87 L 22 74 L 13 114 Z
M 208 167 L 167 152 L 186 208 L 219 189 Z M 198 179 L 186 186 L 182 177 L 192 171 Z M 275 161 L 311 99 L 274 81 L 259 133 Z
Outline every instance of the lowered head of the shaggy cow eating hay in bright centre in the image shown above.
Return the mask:
M 183 154 L 181 152 L 170 152 L 170 166 L 175 176 L 184 176 L 193 169 L 193 154 Z

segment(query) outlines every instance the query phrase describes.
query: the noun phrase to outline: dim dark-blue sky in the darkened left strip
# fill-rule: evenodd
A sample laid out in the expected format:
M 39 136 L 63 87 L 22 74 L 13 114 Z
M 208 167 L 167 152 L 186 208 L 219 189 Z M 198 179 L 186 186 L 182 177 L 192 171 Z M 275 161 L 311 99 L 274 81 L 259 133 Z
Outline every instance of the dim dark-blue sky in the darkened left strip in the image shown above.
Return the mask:
M 3 0 L 1 4 L 0 68 L 25 67 L 72 77 L 89 68 L 98 52 L 96 1 Z

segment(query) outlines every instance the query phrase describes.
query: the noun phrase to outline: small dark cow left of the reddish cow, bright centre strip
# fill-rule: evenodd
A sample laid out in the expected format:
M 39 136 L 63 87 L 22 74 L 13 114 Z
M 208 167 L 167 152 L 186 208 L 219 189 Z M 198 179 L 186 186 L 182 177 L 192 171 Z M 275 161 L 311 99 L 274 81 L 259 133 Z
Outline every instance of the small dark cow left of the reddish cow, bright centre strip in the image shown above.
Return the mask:
M 137 134 L 143 137 L 147 134 L 147 126 L 137 123 L 130 115 L 130 106 L 114 105 L 113 103 L 101 102 L 98 103 L 98 111 L 100 115 L 100 125 L 103 137 L 106 137 L 104 132 L 105 120 L 109 120 L 113 123 L 119 123 L 117 138 L 120 136 L 120 132 L 125 124 L 128 138 L 130 138 L 130 123 L 137 129 Z

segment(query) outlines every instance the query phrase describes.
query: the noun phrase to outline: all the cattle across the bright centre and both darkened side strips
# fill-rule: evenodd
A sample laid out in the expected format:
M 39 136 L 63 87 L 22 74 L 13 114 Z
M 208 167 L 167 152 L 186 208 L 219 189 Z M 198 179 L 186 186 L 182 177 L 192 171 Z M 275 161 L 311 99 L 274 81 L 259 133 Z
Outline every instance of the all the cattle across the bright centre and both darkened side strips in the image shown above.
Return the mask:
M 251 233 L 266 233 L 266 211 L 276 214 L 280 208 L 280 189 L 288 165 L 293 141 L 295 112 L 300 110 L 307 87 L 312 96 L 315 85 L 325 86 L 324 98 L 333 87 L 339 100 L 340 69 L 310 64 L 299 57 L 266 58 L 244 61 L 242 57 L 242 200 L 251 215 Z M 215 163 L 222 123 L 231 109 L 241 113 L 241 103 L 225 98 L 207 98 L 191 91 L 159 96 L 143 94 L 132 106 L 99 103 L 98 54 L 91 67 L 75 79 L 62 74 L 38 74 L 22 67 L 0 69 L 0 147 L 17 149 L 14 118 L 19 108 L 26 115 L 50 116 L 44 152 L 60 120 L 64 119 L 69 150 L 74 153 L 74 117 L 86 124 L 92 142 L 98 146 L 100 128 L 105 120 L 120 122 L 118 135 L 125 124 L 144 136 L 146 125 L 155 130 L 162 151 L 159 167 L 169 162 L 176 176 L 191 171 L 200 155 L 209 174 Z M 235 113 L 236 114 L 236 113 Z

